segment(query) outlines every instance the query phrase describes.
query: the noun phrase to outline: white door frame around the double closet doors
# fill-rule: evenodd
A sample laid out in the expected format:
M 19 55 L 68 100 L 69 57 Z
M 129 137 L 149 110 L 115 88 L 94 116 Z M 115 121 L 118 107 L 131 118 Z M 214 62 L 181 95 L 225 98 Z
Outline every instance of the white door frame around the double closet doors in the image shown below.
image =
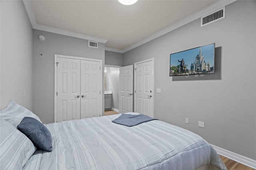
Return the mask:
M 88 61 L 98 61 L 98 62 L 100 62 L 100 95 L 101 95 L 100 108 L 102 110 L 102 100 L 103 100 L 103 97 L 104 97 L 104 93 L 102 93 L 102 60 L 54 54 L 54 122 L 57 121 L 57 71 L 58 71 L 58 69 L 57 69 L 57 61 L 58 61 L 58 57 L 69 58 L 69 59 L 88 60 Z M 100 116 L 102 116 L 102 111 L 101 111 Z

